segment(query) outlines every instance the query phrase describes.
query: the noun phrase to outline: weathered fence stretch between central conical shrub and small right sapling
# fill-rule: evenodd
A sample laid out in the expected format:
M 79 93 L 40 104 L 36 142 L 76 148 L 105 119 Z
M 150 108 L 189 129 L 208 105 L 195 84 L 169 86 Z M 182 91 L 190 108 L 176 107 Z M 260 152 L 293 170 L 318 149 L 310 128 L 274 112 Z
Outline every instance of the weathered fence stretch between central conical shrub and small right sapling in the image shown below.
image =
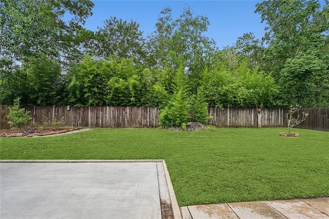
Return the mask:
M 284 109 L 208 108 L 208 125 L 216 127 L 282 127 Z

